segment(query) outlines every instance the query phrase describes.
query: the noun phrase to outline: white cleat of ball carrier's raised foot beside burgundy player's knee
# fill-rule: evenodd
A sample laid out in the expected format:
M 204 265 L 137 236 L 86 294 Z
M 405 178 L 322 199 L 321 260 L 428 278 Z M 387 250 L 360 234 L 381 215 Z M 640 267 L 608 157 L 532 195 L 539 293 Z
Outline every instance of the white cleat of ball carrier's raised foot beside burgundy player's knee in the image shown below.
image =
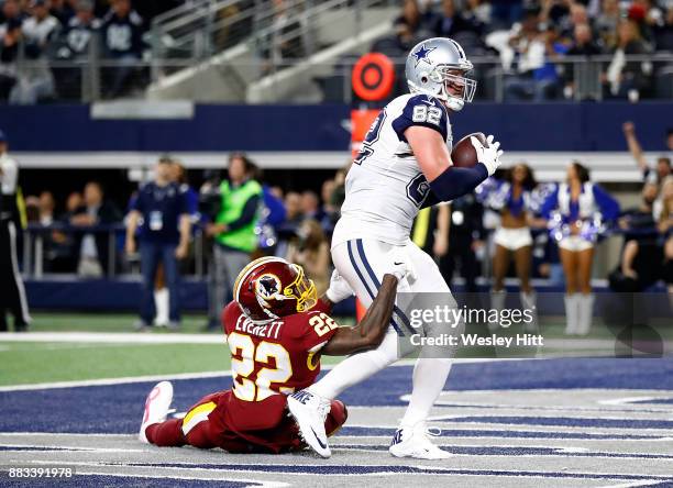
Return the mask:
M 324 432 L 324 419 L 332 402 L 308 390 L 299 390 L 287 397 L 287 408 L 299 426 L 304 442 L 322 457 L 330 457 L 332 452 Z

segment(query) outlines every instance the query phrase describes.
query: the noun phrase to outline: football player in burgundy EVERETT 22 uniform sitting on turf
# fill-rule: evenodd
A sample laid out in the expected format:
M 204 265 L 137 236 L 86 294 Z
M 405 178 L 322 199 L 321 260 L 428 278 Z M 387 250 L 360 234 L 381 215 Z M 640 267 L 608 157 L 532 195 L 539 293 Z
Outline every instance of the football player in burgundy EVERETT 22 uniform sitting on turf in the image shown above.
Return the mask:
M 307 388 L 320 373 L 320 356 L 377 347 L 385 336 L 404 266 L 383 279 L 376 299 L 354 328 L 329 315 L 334 302 L 353 292 L 334 273 L 318 299 L 304 269 L 278 257 L 249 264 L 234 286 L 234 301 L 222 312 L 231 351 L 233 387 L 199 400 L 183 419 L 166 420 L 173 386 L 162 381 L 145 401 L 139 439 L 158 446 L 221 447 L 231 453 L 285 453 L 306 446 L 288 417 L 287 395 Z M 345 422 L 339 400 L 323 408 L 324 429 Z

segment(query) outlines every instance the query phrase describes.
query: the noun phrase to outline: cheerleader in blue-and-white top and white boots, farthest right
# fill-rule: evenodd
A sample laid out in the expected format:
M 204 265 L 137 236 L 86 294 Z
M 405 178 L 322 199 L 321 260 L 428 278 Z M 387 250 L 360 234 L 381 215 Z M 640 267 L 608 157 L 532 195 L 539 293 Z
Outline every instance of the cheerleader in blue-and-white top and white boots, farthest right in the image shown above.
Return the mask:
M 586 335 L 592 325 L 592 264 L 594 245 L 619 214 L 619 203 L 598 185 L 589 182 L 588 169 L 577 162 L 567 168 L 542 204 L 565 274 L 566 334 Z

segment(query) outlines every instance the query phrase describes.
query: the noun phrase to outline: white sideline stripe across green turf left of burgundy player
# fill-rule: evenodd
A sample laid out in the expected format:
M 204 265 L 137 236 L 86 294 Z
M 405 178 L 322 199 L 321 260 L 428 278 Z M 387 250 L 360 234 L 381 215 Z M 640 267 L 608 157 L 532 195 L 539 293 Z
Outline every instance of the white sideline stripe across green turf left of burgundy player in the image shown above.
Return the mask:
M 222 334 L 144 334 L 107 332 L 1 332 L 0 342 L 87 342 L 118 344 L 224 344 Z

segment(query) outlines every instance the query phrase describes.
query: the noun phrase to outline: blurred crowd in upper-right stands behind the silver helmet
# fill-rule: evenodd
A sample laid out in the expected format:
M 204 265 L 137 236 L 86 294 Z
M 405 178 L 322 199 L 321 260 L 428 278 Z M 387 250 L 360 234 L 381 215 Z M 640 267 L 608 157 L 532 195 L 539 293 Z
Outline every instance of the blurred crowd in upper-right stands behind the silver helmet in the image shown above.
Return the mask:
M 598 64 L 602 98 L 637 101 L 670 96 L 658 90 L 658 76 L 670 66 L 648 57 L 673 52 L 673 5 L 653 0 L 406 0 L 395 20 L 396 35 L 378 40 L 372 51 L 404 57 L 422 38 L 455 40 L 471 59 L 497 55 L 505 71 L 504 99 L 571 99 L 575 77 L 591 67 L 562 63 L 565 57 L 608 56 Z M 625 56 L 646 56 L 627 60 Z M 582 73 L 575 73 L 576 70 Z M 476 66 L 482 81 L 487 73 Z M 582 91 L 578 98 L 598 98 Z

